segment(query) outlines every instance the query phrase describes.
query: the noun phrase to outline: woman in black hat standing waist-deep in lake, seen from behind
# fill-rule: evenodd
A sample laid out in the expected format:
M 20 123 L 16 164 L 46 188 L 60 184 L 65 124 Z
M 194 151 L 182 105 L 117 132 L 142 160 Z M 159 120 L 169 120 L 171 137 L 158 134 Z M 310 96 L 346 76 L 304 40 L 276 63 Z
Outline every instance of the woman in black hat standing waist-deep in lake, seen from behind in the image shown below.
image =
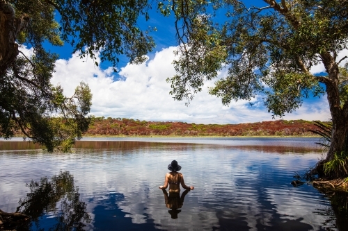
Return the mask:
M 182 173 L 178 173 L 180 171 L 181 166 L 177 164 L 176 160 L 173 160 L 171 164 L 168 165 L 168 169 L 171 170 L 170 173 L 166 173 L 166 178 L 164 180 L 164 185 L 161 185 L 159 189 L 166 189 L 169 184 L 169 193 L 171 192 L 180 192 L 180 184 L 184 189 L 193 190 L 193 186 L 187 186 L 184 182 L 184 176 Z

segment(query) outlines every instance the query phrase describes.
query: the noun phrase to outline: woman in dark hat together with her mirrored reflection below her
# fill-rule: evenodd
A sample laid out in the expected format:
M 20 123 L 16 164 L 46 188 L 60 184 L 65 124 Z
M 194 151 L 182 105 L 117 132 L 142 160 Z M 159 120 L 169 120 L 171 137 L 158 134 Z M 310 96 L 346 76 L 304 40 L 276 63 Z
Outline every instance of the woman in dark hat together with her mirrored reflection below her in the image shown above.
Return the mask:
M 164 200 L 166 202 L 166 207 L 168 207 L 168 212 L 171 214 L 172 219 L 177 219 L 177 214 L 181 212 L 180 208 L 184 203 L 184 198 L 186 194 L 194 189 L 193 186 L 187 186 L 184 182 L 184 176 L 182 173 L 178 173 L 180 171 L 181 166 L 177 164 L 176 160 L 173 160 L 171 164 L 168 165 L 168 169 L 171 170 L 170 173 L 166 173 L 166 178 L 164 180 L 164 185 L 161 185 L 159 189 L 163 190 Z M 166 188 L 169 184 L 169 196 L 166 191 Z M 180 185 L 186 189 L 181 195 L 180 198 Z

